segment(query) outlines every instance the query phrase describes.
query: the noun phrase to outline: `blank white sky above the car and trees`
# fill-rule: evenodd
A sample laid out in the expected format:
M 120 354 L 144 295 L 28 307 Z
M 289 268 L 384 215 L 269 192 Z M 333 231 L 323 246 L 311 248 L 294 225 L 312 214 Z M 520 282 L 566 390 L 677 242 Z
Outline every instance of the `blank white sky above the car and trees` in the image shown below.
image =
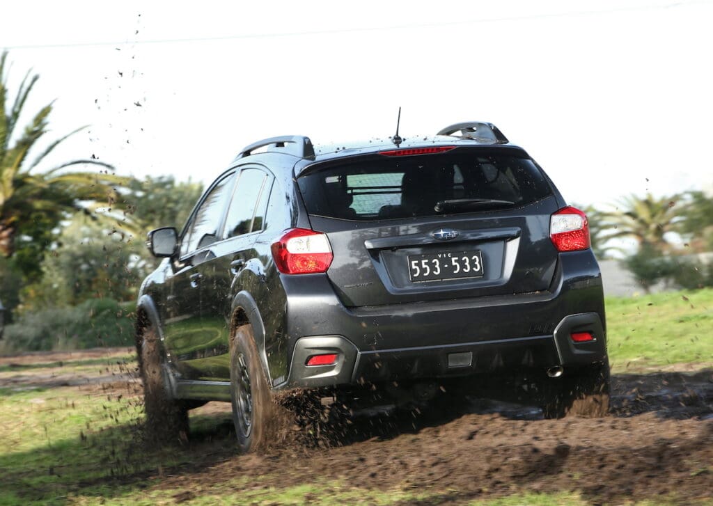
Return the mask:
M 27 110 L 58 99 L 53 137 L 91 124 L 48 165 L 94 154 L 120 173 L 207 183 L 260 138 L 393 135 L 401 105 L 405 137 L 492 121 L 570 202 L 713 188 L 713 1 L 13 1 L 2 12 L 11 85 L 41 75 Z

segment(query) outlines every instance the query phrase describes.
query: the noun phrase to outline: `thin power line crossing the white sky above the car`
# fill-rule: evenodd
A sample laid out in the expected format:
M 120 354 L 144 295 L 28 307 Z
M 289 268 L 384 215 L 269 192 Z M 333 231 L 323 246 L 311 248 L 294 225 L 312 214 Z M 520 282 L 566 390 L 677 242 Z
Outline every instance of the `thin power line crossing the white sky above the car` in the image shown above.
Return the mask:
M 503 16 L 487 19 L 473 19 L 468 21 L 449 21 L 441 23 L 414 23 L 401 24 L 391 26 L 366 26 L 351 29 L 332 29 L 332 30 L 309 30 L 309 31 L 291 31 L 282 33 L 247 33 L 241 35 L 225 35 L 225 36 L 210 36 L 210 37 L 185 37 L 185 38 L 157 38 L 137 41 L 97 41 L 97 42 L 68 42 L 68 43 L 48 43 L 48 44 L 17 44 L 15 46 L 4 46 L 4 49 L 48 49 L 48 48 L 80 48 L 91 46 L 134 46 L 140 44 L 170 44 L 170 43 L 187 43 L 187 42 L 212 42 L 212 41 L 232 41 L 251 38 L 283 38 L 283 37 L 299 37 L 299 36 L 314 36 L 314 35 L 337 35 L 341 33 L 361 33 L 385 30 L 404 30 L 416 28 L 438 28 L 442 26 L 464 26 L 472 24 L 486 23 L 502 23 L 503 21 L 530 21 L 535 19 L 556 19 L 564 17 L 577 16 L 592 16 L 597 14 L 618 14 L 623 12 L 636 11 L 654 11 L 659 9 L 670 9 L 681 6 L 692 6 L 695 4 L 709 4 L 708 1 L 674 1 L 670 4 L 657 4 L 649 6 L 636 7 L 620 7 L 616 9 L 606 10 L 590 10 L 590 11 L 571 11 L 553 14 L 533 14 L 531 16 Z

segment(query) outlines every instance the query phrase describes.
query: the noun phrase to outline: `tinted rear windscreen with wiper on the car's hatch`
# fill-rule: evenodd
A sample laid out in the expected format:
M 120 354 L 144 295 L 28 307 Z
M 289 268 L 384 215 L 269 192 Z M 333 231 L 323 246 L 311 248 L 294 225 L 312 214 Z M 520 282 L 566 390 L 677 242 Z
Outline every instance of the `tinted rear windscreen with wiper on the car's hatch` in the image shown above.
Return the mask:
M 525 155 L 458 150 L 440 155 L 375 155 L 329 165 L 297 179 L 310 215 L 389 220 L 529 204 L 552 193 Z

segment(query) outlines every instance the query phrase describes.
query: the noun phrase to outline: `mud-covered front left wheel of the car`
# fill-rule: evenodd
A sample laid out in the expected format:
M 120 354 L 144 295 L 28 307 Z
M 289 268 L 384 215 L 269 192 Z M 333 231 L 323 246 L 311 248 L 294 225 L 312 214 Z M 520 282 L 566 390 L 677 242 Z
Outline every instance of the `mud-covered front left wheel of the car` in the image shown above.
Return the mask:
M 168 374 L 158 335 L 152 326 L 140 330 L 136 340 L 146 432 L 159 443 L 184 443 L 188 440 L 188 406 L 170 396 Z

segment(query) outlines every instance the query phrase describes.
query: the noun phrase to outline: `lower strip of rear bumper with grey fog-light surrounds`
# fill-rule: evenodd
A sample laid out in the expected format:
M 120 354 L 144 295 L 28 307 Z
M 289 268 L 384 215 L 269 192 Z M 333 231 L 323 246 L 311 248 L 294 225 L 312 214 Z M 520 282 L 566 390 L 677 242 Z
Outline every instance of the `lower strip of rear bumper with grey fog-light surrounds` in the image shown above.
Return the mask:
M 572 332 L 587 331 L 594 339 L 575 343 Z M 603 361 L 605 340 L 596 313 L 566 316 L 551 336 L 359 351 L 343 336 L 310 336 L 294 346 L 288 386 L 312 388 L 448 378 L 477 373 L 518 371 L 553 366 L 578 367 Z M 310 356 L 337 353 L 330 366 L 307 366 Z

